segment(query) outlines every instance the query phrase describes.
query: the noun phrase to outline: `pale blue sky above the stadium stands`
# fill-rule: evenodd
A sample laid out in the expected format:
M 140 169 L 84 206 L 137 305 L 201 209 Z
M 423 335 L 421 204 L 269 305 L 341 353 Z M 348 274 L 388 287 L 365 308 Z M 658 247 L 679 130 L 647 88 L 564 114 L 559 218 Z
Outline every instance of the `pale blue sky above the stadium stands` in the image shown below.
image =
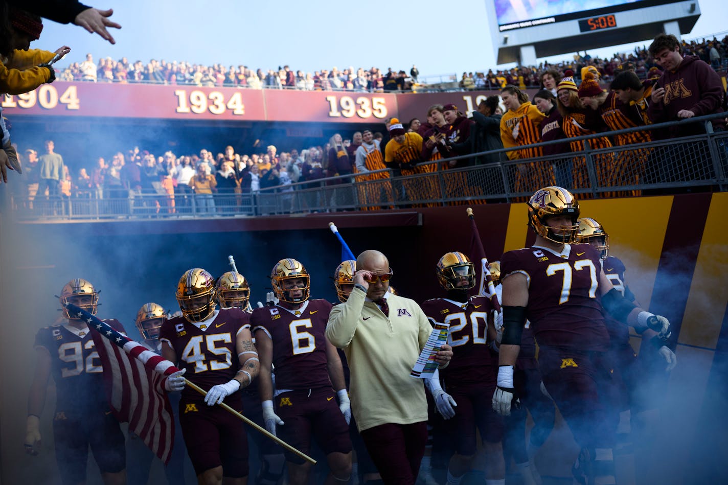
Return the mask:
M 333 66 L 409 72 L 416 64 L 420 76 L 429 77 L 496 66 L 486 1 L 493 0 L 387 2 L 373 8 L 371 3 L 332 0 L 86 0 L 94 7 L 114 8 L 112 19 L 122 25 L 112 32 L 116 45 L 75 25 L 46 20 L 41 39 L 31 47 L 71 47 L 60 68 L 91 52 L 97 61 L 106 56 L 144 63 L 156 58 L 264 71 L 288 64 L 311 72 Z M 702 15 L 683 38 L 727 31 L 723 1 L 699 1 Z M 589 53 L 604 57 L 634 45 Z

